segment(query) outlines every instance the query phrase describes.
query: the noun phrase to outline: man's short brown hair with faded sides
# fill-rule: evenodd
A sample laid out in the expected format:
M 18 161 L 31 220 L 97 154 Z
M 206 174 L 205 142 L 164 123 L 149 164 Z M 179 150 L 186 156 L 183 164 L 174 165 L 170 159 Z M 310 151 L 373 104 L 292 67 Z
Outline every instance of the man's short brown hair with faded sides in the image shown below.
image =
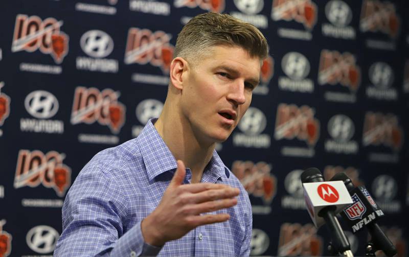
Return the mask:
M 252 58 L 260 60 L 268 56 L 267 40 L 253 25 L 229 14 L 202 13 L 180 31 L 174 57 L 194 59 L 216 45 L 240 46 Z

